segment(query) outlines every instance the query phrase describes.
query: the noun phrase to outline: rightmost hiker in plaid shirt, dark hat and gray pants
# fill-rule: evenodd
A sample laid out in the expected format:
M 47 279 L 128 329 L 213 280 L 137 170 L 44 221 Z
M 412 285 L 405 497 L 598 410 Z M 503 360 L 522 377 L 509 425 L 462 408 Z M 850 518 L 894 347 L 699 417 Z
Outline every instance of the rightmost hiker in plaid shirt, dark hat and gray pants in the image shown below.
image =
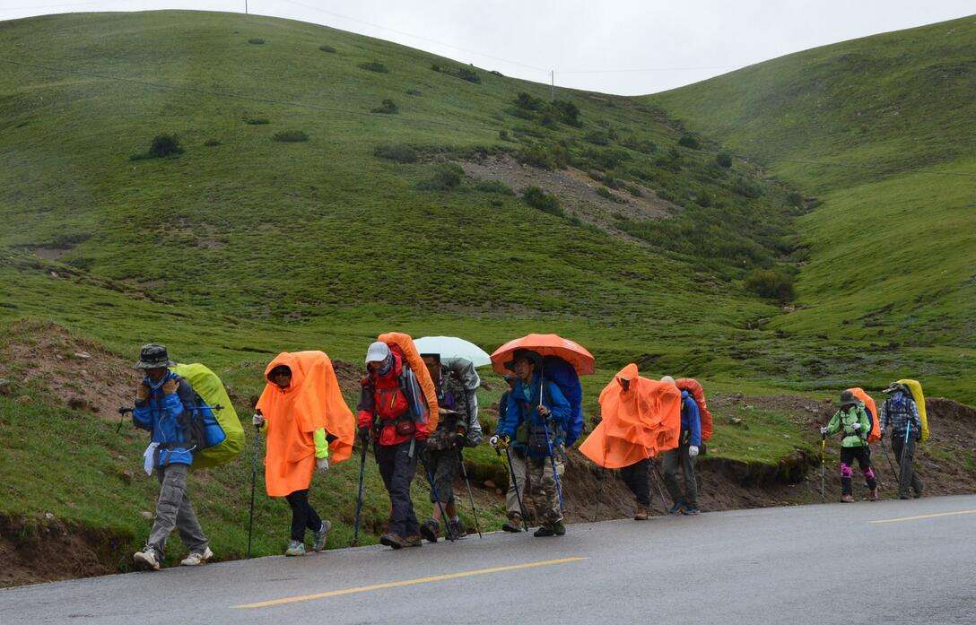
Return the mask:
M 898 498 L 909 499 L 911 488 L 917 499 L 923 488 L 918 474 L 915 473 L 915 446 L 921 440 L 918 407 L 912 392 L 904 384 L 895 382 L 883 392 L 888 397 L 881 404 L 881 438 L 890 434 L 891 451 L 898 458 Z

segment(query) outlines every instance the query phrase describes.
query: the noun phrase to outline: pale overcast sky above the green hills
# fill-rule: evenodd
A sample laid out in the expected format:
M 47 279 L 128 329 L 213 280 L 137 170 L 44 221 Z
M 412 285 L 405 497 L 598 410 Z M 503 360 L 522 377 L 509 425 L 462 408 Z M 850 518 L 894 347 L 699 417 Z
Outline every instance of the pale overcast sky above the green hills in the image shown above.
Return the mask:
M 976 0 L 247 0 L 558 86 L 649 94 L 754 62 L 961 18 Z M 245 0 L 0 0 L 0 20 L 80 11 L 244 11 Z

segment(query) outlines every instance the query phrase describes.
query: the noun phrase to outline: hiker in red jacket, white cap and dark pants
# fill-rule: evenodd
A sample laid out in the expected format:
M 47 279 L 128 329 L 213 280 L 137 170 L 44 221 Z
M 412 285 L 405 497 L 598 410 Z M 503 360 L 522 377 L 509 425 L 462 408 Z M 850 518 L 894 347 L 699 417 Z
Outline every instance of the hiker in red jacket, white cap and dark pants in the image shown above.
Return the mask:
M 411 398 L 405 390 L 421 393 L 402 354 L 383 341 L 371 344 L 356 410 L 360 440 L 364 445 L 374 441 L 380 476 L 389 493 L 389 526 L 380 542 L 392 549 L 423 544 L 410 484 L 426 446 L 427 423 L 413 418 Z

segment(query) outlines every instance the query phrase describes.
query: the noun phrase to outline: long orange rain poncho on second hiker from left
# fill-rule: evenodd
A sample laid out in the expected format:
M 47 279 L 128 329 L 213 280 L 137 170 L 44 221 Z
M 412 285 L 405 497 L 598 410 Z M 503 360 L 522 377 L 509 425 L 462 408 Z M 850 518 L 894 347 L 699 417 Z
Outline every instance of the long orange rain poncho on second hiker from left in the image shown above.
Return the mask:
M 292 370 L 292 383 L 279 388 L 268 381 L 258 400 L 267 419 L 264 484 L 267 494 L 283 497 L 308 488 L 315 470 L 313 433 L 325 428 L 333 465 L 352 454 L 355 420 L 339 389 L 332 361 L 323 352 L 282 352 L 264 368 L 264 377 L 279 365 Z

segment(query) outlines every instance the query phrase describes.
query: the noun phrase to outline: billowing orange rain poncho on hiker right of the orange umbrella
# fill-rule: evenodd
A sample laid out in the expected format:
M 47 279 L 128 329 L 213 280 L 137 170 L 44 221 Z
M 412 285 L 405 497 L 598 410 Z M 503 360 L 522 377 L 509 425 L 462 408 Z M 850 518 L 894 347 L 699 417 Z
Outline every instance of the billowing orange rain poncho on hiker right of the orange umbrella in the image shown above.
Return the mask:
M 630 380 L 624 390 L 620 380 Z M 674 449 L 681 433 L 681 391 L 673 384 L 640 377 L 630 364 L 600 393 L 602 420 L 580 446 L 607 469 L 621 469 Z

